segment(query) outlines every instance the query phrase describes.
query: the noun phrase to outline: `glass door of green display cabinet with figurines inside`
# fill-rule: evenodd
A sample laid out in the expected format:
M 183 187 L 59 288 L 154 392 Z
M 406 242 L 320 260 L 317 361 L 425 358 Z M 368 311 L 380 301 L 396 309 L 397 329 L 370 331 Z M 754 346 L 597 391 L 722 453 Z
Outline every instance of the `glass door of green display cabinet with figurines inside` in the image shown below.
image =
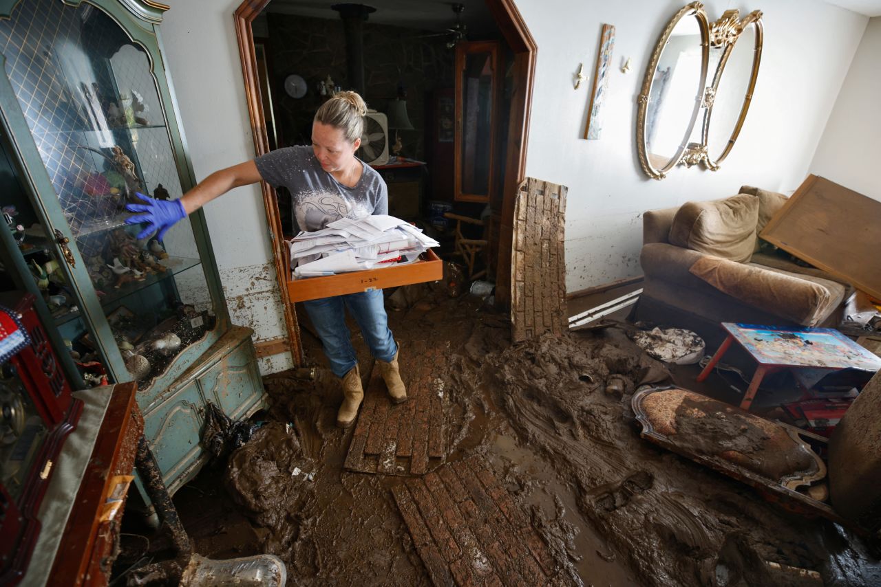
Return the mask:
M 144 389 L 217 322 L 192 224 L 178 223 L 161 243 L 137 238 L 144 225 L 124 224 L 137 193 L 165 200 L 182 193 L 151 55 L 93 4 L 59 0 L 17 5 L 0 20 L 0 48 L 55 192 L 39 194 L 40 205 L 63 217 L 73 237 L 67 246 L 78 253 L 70 260 L 82 261 L 92 285 L 71 291 L 61 275 L 41 285 L 56 327 L 80 363 L 122 356 L 126 372 L 111 381 Z M 24 226 L 25 245 L 28 235 L 55 238 L 53 228 Z M 93 323 L 102 320 L 81 319 L 89 299 L 97 299 L 113 341 L 95 340 L 107 332 Z

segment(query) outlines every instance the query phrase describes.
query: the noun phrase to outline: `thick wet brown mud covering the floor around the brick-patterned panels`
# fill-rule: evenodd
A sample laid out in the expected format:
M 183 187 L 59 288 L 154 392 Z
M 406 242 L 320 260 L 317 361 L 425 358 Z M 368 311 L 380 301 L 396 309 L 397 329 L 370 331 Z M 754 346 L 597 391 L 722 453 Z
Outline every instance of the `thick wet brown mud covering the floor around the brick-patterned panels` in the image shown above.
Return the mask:
M 572 584 L 881 584 L 877 561 L 839 527 L 640 439 L 630 396 L 668 371 L 620 331 L 512 346 L 507 319 L 476 297 L 409 297 L 389 319 L 405 381 L 426 345 L 444 349 L 425 372 L 448 393 L 448 460 L 483 454 Z M 323 367 L 306 327 L 302 338 Z M 352 431 L 334 426 L 342 396 L 329 371 L 265 384 L 268 423 L 175 495 L 196 552 L 277 554 L 290 585 L 431 584 L 389 491 L 403 479 L 343 470 Z

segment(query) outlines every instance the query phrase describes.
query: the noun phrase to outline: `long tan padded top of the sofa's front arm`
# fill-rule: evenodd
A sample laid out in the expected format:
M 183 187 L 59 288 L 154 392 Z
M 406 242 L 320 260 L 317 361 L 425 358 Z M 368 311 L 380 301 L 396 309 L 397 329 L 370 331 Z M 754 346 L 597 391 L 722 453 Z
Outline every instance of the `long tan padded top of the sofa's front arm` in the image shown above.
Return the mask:
M 744 304 L 816 326 L 840 304 L 845 288 L 819 277 L 795 275 L 754 264 L 703 256 L 689 269 L 692 275 Z

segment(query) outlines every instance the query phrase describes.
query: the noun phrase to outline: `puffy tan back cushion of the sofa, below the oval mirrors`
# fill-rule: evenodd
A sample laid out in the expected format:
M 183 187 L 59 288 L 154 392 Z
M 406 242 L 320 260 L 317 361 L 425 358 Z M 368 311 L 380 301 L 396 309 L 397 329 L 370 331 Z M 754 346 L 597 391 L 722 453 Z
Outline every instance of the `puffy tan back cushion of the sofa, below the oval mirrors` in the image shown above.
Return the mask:
M 713 202 L 685 202 L 670 226 L 670 244 L 737 262 L 750 260 L 759 198 L 737 194 Z

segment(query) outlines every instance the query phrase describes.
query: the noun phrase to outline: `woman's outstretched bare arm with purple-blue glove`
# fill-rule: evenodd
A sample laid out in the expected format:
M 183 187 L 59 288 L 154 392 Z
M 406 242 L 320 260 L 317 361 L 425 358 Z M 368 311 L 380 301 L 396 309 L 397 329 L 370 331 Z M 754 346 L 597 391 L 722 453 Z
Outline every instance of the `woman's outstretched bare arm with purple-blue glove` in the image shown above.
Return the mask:
M 144 203 L 129 204 L 125 208 L 130 212 L 141 212 L 141 214 L 130 216 L 125 224 L 147 224 L 137 238 L 145 238 L 159 231 L 158 238 L 162 240 L 168 229 L 188 214 L 202 208 L 214 198 L 226 194 L 233 187 L 247 186 L 261 179 L 254 161 L 246 161 L 211 173 L 196 187 L 181 195 L 180 200 L 154 200 L 150 196 L 137 194 Z

